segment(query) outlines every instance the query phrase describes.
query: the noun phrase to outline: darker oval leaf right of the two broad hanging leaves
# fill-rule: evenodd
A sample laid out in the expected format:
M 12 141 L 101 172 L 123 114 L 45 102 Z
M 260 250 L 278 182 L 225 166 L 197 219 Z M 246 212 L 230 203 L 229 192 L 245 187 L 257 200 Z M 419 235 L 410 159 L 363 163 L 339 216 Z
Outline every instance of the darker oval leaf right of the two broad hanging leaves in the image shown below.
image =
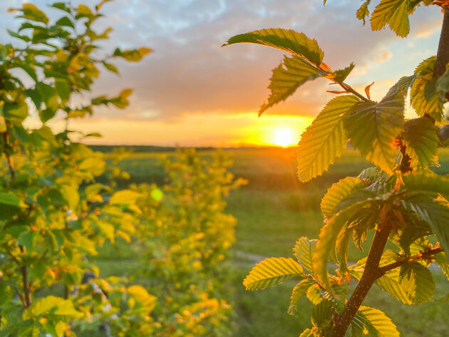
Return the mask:
M 429 118 L 408 120 L 402 133 L 412 167 L 429 165 L 438 150 L 438 128 Z

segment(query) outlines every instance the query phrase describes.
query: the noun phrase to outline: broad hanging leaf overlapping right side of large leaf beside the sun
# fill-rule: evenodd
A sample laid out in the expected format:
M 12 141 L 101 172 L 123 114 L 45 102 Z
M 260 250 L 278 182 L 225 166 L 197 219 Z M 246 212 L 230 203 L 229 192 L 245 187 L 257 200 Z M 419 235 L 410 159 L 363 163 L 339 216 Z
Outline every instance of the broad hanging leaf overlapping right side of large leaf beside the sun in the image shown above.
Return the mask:
M 353 145 L 378 167 L 393 175 L 396 149 L 393 140 L 403 130 L 404 98 L 390 91 L 379 103 L 363 102 L 351 108 L 344 127 Z

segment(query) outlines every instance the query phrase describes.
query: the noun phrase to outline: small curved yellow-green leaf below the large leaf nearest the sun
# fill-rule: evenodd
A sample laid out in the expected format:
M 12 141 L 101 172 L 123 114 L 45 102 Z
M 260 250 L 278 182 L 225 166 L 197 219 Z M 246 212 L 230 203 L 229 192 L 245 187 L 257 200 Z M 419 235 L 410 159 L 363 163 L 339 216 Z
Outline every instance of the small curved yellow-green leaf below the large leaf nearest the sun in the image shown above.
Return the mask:
M 324 217 L 332 217 L 339 206 L 346 197 L 349 197 L 352 192 L 365 187 L 366 185 L 359 178 L 346 177 L 339 182 L 335 182 L 329 190 L 327 190 L 323 199 L 321 199 L 321 212 Z

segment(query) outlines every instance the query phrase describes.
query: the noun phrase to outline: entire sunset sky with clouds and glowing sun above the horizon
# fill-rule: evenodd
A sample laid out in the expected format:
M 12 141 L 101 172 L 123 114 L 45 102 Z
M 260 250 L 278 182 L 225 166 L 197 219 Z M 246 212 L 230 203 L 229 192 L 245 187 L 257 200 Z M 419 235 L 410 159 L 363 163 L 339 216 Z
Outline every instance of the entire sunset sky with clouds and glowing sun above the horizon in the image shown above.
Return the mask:
M 0 40 L 11 41 L 6 28 L 19 26 L 11 6 L 31 2 L 45 9 L 54 1 L 0 1 Z M 93 6 L 97 1 L 83 2 Z M 372 1 L 378 3 L 378 1 Z M 289 145 L 299 140 L 321 107 L 334 95 L 328 81 L 301 87 L 285 103 L 257 118 L 269 95 L 272 68 L 284 53 L 242 44 L 221 48 L 227 38 L 260 28 L 292 28 L 316 38 L 331 68 L 356 63 L 347 83 L 371 88 L 380 99 L 401 76 L 433 55 L 442 21 L 440 8 L 418 8 L 411 34 L 401 39 L 389 31 L 372 32 L 355 18 L 360 1 L 329 0 L 115 0 L 105 5 L 98 28 L 113 27 L 107 51 L 114 46 L 154 49 L 140 63 L 117 62 L 121 76 L 104 73 L 93 96 L 134 88 L 130 106 L 97 110 L 71 127 L 96 131 L 92 143 L 128 145 L 239 146 Z M 51 15 L 50 15 L 51 16 Z M 338 90 L 337 88 L 335 88 Z M 30 118 L 30 124 L 38 123 Z M 58 123 L 53 125 L 58 128 Z M 287 144 L 288 143 L 288 144 Z

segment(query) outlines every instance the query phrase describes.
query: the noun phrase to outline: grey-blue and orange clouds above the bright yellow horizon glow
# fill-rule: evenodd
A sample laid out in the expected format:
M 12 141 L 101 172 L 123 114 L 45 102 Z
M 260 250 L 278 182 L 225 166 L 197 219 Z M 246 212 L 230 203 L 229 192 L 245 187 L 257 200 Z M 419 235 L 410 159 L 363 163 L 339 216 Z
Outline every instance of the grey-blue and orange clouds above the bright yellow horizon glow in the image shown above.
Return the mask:
M 5 14 L 5 2 L 8 6 L 21 3 L 0 1 L 2 39 L 6 38 L 6 28 L 18 25 L 11 14 Z M 43 8 L 53 0 L 31 2 Z M 83 1 L 73 1 L 78 2 Z M 98 120 L 176 123 L 189 115 L 207 119 L 210 115 L 257 110 L 269 95 L 272 68 L 282 61 L 284 53 L 249 44 L 220 48 L 227 38 L 254 29 L 293 28 L 316 38 L 331 68 L 356 63 L 348 81 L 360 88 L 405 75 L 401 73 L 403 66 L 410 64 L 408 68 L 413 69 L 416 64 L 412 62 L 418 58 L 411 58 L 411 49 L 427 51 L 430 44 L 436 44 L 434 34 L 425 37 L 425 27 L 431 24 L 434 29 L 441 21 L 436 6 L 420 8 L 411 17 L 411 36 L 415 37 L 411 40 L 398 38 L 387 29 L 373 32 L 368 23 L 363 27 L 355 18 L 357 7 L 351 0 L 331 0 L 326 7 L 320 1 L 306 0 L 112 1 L 104 6 L 105 18 L 98 20 L 99 30 L 106 26 L 114 29 L 103 48 L 149 46 L 155 52 L 140 63 L 118 61 L 120 77 L 110 73 L 100 76 L 94 96 L 113 95 L 123 88 L 135 91 L 126 110 L 100 109 L 96 116 Z M 411 42 L 413 48 L 408 46 Z M 320 79 L 307 83 L 266 115 L 314 116 L 333 97 L 326 93 L 329 88 Z

